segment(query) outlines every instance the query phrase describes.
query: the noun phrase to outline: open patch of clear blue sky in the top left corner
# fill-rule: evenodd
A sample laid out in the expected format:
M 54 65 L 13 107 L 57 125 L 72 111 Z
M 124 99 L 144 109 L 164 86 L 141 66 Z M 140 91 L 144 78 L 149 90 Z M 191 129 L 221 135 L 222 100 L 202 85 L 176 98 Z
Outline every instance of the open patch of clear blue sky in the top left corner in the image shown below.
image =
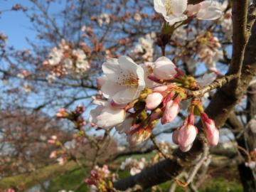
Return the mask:
M 28 9 L 31 7 L 31 3 L 28 0 L 0 0 L 0 11 L 9 10 L 13 5 L 21 4 L 21 2 Z M 7 43 L 9 46 L 14 46 L 18 49 L 28 47 L 26 37 L 31 39 L 35 37 L 30 21 L 22 11 L 4 11 L 0 15 L 0 32 L 8 36 Z

